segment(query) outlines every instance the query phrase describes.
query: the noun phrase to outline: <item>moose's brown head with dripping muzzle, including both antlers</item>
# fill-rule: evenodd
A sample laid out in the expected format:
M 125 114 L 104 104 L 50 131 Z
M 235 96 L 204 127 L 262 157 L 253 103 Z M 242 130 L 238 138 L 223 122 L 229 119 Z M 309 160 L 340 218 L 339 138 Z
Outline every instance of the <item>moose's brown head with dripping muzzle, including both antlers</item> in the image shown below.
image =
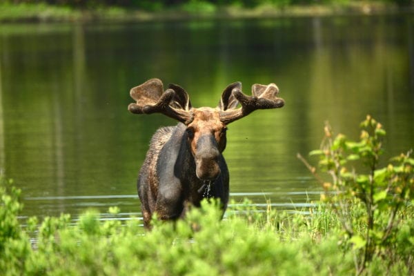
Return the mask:
M 170 84 L 164 92 L 161 80 L 150 79 L 130 90 L 137 103 L 130 103 L 128 110 L 135 114 L 158 112 L 186 125 L 197 177 L 214 180 L 220 172 L 217 158 L 226 148 L 227 125 L 257 109 L 281 108 L 284 100 L 277 97 L 278 93 L 275 83 L 254 84 L 253 95 L 247 96 L 242 83 L 235 82 L 224 90 L 216 108 L 194 108 L 184 88 Z M 237 108 L 238 103 L 242 107 Z

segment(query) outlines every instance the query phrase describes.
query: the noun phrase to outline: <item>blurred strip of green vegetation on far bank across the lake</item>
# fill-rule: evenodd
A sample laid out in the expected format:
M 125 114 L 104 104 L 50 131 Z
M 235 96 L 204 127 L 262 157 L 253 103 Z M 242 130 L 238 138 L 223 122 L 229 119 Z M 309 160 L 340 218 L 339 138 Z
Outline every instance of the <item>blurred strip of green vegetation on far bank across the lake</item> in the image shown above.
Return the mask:
M 381 12 L 413 0 L 3 0 L 0 21 L 148 20 Z

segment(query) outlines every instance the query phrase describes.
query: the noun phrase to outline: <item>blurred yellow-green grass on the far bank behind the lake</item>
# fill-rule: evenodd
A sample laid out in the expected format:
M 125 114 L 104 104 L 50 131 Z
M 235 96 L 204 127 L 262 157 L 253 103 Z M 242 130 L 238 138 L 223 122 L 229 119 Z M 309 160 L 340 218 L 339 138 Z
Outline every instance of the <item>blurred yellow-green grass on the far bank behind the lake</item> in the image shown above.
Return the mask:
M 228 5 L 215 6 L 207 1 L 188 1 L 172 8 L 127 9 L 117 6 L 72 8 L 46 3 L 0 2 L 0 21 L 148 21 L 188 18 L 253 18 L 278 16 L 315 16 L 326 14 L 372 14 L 397 10 L 393 2 L 344 0 L 335 3 L 291 5 L 286 0 L 268 1 L 254 8 Z

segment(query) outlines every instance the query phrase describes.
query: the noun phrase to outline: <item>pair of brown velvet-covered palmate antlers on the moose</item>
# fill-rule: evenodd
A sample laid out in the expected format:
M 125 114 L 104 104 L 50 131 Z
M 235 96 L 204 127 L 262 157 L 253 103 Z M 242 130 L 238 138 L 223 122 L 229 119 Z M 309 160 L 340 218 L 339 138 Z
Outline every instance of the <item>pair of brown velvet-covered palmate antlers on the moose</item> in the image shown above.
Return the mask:
M 281 108 L 284 106 L 284 99 L 277 97 L 279 88 L 275 83 L 267 86 L 254 84 L 252 96 L 242 92 L 242 83 L 235 82 L 227 86 L 221 95 L 217 112 L 219 119 L 224 124 L 230 124 L 237 119 L 249 115 L 257 109 Z M 136 103 L 130 103 L 128 110 L 135 114 L 161 113 L 186 125 L 193 121 L 193 108 L 190 98 L 184 88 L 176 84 L 170 84 L 164 92 L 162 81 L 149 79 L 130 90 L 132 99 Z M 237 108 L 238 104 L 241 108 Z

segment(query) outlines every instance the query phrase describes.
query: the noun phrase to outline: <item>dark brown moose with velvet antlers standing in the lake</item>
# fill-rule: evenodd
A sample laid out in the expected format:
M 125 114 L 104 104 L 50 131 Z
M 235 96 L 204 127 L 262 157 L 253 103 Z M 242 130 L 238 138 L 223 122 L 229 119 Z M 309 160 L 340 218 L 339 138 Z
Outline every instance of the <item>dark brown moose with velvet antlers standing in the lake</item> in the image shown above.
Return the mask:
M 161 113 L 179 121 L 177 126 L 159 128 L 152 136 L 139 178 L 144 227 L 150 228 L 154 213 L 161 220 L 176 220 L 204 198 L 220 200 L 227 208 L 229 174 L 222 155 L 227 125 L 257 109 L 282 108 L 275 83 L 254 84 L 252 96 L 242 92 L 242 83 L 224 89 L 216 108 L 194 108 L 180 86 L 170 83 L 164 91 L 159 79 L 149 79 L 130 90 L 137 101 L 128 110 L 135 114 Z M 241 107 L 238 107 L 239 104 Z

